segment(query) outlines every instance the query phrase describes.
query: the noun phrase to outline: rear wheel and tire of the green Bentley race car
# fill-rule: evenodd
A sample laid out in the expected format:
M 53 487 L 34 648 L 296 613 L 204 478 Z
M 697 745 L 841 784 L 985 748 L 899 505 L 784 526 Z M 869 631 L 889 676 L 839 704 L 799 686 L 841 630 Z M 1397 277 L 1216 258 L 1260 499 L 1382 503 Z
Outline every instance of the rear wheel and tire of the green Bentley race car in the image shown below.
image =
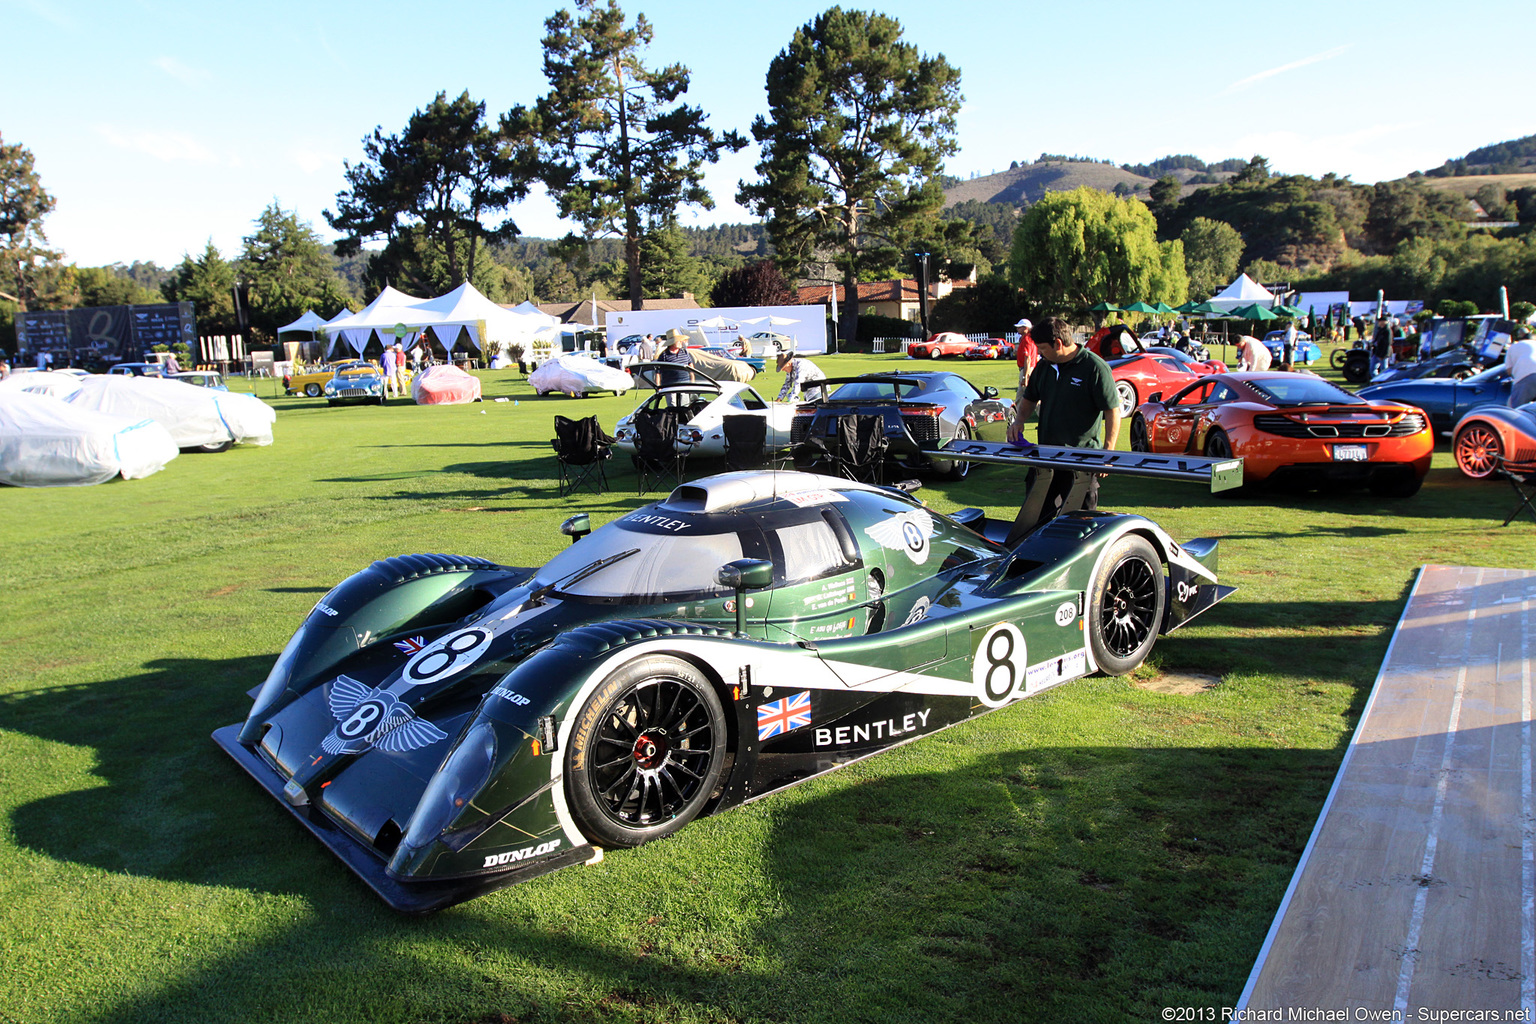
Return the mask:
M 1124 676 L 1146 660 L 1163 626 L 1163 559 L 1140 534 L 1109 545 L 1087 602 L 1087 643 L 1098 671 Z

